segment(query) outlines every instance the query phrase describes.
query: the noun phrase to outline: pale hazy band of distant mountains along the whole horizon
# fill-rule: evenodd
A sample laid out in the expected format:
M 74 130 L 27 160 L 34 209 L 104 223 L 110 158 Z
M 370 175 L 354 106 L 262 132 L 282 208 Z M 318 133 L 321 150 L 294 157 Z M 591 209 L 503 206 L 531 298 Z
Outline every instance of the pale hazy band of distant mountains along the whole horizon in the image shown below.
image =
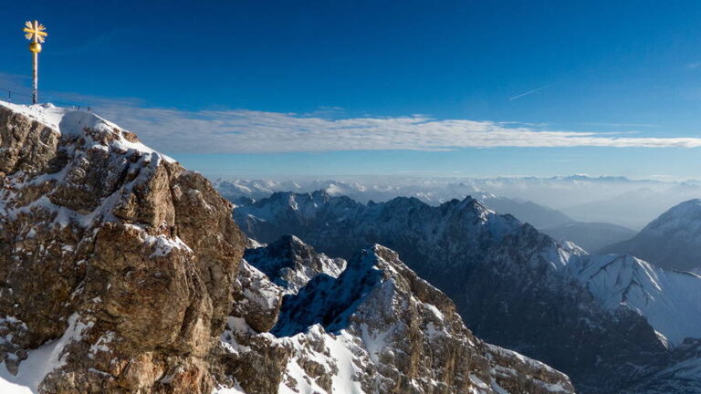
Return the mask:
M 675 204 L 701 197 L 701 181 L 637 181 L 584 175 L 486 179 L 217 180 L 214 184 L 227 199 L 243 204 L 265 198 L 273 192 L 317 190 L 331 195 L 347 195 L 357 202 L 385 202 L 404 196 L 416 197 L 430 205 L 471 195 L 497 212 L 511 213 L 539 229 L 582 222 L 612 223 L 638 231 Z M 586 233 L 586 229 L 583 231 Z M 586 238 L 585 234 L 582 239 Z

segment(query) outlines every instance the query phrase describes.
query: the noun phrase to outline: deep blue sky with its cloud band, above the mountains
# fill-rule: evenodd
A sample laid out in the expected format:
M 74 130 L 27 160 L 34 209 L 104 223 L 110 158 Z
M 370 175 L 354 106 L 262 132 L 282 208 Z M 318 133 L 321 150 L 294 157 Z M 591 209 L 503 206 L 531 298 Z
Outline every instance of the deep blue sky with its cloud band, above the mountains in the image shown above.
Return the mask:
M 43 99 L 205 174 L 699 177 L 699 2 L 11 2 L 0 88 L 35 17 Z

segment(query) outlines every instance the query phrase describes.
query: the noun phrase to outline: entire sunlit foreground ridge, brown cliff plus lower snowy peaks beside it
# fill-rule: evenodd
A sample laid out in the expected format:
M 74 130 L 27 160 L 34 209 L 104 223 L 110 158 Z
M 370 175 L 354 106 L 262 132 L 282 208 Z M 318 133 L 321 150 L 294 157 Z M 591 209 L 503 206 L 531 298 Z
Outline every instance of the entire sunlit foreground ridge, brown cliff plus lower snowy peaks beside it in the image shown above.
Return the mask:
M 0 152 L 3 392 L 572 392 L 382 246 L 242 261 L 211 184 L 97 116 L 0 103 Z

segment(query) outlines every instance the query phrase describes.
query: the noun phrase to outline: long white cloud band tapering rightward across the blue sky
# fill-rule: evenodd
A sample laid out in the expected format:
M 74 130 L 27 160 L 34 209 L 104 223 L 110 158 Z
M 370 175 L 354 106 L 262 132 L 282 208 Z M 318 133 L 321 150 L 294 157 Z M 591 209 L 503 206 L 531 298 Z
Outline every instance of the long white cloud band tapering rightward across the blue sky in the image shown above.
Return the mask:
M 698 138 L 629 137 L 622 132 L 538 130 L 468 119 L 325 119 L 254 110 L 140 108 L 103 101 L 99 114 L 168 152 L 263 153 L 330 150 L 455 150 L 476 147 L 701 147 Z

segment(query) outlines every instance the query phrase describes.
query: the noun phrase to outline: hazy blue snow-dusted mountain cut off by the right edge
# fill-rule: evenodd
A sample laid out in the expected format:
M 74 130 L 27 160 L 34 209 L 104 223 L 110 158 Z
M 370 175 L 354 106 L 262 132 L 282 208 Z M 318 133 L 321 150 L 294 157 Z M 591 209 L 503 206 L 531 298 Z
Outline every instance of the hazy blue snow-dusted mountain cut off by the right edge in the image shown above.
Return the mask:
M 633 254 L 668 269 L 701 267 L 701 200 L 675 205 L 633 238 L 603 247 L 602 253 Z

